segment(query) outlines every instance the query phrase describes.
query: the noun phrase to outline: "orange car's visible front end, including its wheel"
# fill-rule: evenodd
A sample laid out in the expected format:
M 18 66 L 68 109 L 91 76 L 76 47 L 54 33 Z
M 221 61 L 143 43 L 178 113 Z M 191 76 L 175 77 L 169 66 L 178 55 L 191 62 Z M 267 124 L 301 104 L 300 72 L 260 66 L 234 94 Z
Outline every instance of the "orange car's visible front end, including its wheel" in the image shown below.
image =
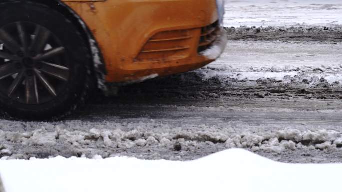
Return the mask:
M 226 45 L 223 0 L 2 0 L 0 107 L 69 114 L 96 86 L 197 69 Z

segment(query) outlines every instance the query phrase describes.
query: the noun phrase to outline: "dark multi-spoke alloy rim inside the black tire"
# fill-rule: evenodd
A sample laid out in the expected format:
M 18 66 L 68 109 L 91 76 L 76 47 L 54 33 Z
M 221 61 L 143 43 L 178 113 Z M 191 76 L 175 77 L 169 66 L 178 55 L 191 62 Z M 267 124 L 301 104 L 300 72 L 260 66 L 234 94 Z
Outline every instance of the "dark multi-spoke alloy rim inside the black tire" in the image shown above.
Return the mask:
M 49 29 L 30 22 L 0 28 L 0 93 L 19 103 L 60 96 L 69 81 L 65 47 Z

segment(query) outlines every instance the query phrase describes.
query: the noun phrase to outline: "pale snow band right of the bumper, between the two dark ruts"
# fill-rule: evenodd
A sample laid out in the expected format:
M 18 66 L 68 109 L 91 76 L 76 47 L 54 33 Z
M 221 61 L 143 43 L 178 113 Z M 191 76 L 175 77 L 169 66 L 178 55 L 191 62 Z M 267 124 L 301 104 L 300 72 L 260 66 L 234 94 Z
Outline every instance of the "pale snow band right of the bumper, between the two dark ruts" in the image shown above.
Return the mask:
M 229 41 L 216 62 L 197 70 L 203 78 L 274 79 L 293 83 L 308 80 L 312 86 L 321 79 L 342 83 L 341 42 Z

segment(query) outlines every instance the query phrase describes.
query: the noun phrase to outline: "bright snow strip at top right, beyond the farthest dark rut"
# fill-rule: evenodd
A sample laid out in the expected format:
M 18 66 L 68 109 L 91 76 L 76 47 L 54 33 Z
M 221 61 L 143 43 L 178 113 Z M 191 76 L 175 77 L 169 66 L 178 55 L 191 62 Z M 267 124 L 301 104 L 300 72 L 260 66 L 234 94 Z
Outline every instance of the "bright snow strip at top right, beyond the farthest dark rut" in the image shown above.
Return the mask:
M 226 0 L 224 25 L 330 26 L 342 24 L 340 0 Z

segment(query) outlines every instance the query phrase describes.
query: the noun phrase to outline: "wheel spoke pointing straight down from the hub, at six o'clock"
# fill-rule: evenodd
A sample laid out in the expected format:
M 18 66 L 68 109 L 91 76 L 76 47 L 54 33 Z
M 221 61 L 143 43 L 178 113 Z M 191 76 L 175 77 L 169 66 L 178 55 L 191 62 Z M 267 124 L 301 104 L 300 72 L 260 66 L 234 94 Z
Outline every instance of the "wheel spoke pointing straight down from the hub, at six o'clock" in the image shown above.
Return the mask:
M 25 91 L 26 103 L 27 104 L 39 103 L 37 79 L 35 75 L 26 76 L 25 87 L 26 87 L 26 91 Z

